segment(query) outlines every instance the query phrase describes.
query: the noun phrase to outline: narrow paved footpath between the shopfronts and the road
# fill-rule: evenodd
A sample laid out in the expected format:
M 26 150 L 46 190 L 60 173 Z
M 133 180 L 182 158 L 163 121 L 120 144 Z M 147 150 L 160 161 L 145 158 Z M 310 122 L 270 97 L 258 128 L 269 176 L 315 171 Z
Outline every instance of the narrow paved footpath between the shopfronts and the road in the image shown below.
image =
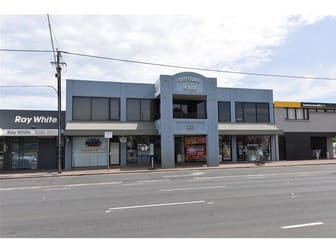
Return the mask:
M 57 171 L 20 171 L 20 172 L 1 172 L 0 179 L 11 178 L 36 178 L 36 177 L 54 177 L 54 176 L 82 176 L 96 174 L 120 174 L 120 173 L 140 173 L 140 172 L 160 172 L 160 171 L 182 171 L 182 170 L 207 170 L 207 169 L 232 169 L 232 168 L 255 168 L 255 167 L 283 167 L 283 166 L 303 166 L 303 165 L 328 165 L 335 164 L 336 159 L 321 159 L 321 160 L 298 160 L 298 161 L 271 161 L 263 165 L 255 163 L 230 163 L 220 164 L 217 167 L 209 166 L 180 166 L 176 168 L 158 168 L 150 170 L 145 167 L 141 168 L 93 168 L 93 169 L 74 169 L 64 170 L 61 174 Z

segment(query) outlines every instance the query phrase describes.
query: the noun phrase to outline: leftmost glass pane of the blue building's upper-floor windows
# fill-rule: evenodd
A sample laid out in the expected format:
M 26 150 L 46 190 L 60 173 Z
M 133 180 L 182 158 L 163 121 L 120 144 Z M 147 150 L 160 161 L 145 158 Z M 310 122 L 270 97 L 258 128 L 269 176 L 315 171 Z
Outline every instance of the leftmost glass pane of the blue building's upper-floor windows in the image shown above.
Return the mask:
M 91 120 L 91 100 L 90 97 L 72 98 L 72 119 Z

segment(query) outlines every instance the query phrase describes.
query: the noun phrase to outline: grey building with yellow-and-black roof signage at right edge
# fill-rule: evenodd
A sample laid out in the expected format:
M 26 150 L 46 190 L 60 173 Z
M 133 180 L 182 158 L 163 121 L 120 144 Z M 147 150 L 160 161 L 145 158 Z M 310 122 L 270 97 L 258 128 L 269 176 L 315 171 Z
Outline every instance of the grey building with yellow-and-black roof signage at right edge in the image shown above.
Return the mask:
M 336 158 L 336 104 L 276 101 L 274 110 L 284 132 L 279 137 L 281 160 Z

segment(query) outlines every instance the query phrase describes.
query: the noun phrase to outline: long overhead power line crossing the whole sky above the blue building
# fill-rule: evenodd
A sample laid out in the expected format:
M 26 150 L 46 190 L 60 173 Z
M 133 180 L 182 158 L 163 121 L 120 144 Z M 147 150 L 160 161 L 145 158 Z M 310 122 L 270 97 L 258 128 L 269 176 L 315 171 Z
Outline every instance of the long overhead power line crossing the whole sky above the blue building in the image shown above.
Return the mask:
M 38 52 L 53 52 L 50 50 L 17 50 L 17 49 L 0 49 L 0 51 L 37 52 L 37 53 Z M 288 75 L 288 74 L 268 74 L 268 73 L 257 73 L 257 72 L 231 71 L 231 70 L 220 70 L 220 69 L 210 69 L 210 68 L 201 68 L 201 67 L 171 65 L 171 64 L 155 63 L 155 62 L 148 62 L 148 61 L 138 61 L 138 60 L 114 58 L 114 57 L 107 57 L 107 56 L 90 55 L 90 54 L 84 54 L 84 53 L 68 52 L 68 51 L 60 51 L 60 52 L 64 54 L 68 54 L 68 55 L 81 56 L 81 57 L 87 57 L 87 58 L 96 58 L 96 59 L 112 60 L 112 61 L 119 61 L 119 62 L 125 62 L 125 63 L 178 68 L 178 69 L 188 69 L 188 70 L 196 70 L 196 71 L 239 74 L 239 75 L 252 75 L 252 76 L 262 76 L 262 77 L 291 78 L 291 79 L 327 80 L 327 81 L 336 80 L 336 77 L 331 78 L 331 77 L 320 77 L 320 76 L 302 76 L 302 75 Z

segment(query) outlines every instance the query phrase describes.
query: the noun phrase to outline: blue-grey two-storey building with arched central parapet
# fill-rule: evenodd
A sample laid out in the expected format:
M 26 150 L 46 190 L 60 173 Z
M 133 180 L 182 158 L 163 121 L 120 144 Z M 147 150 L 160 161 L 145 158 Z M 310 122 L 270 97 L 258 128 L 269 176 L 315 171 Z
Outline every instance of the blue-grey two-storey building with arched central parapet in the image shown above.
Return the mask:
M 67 80 L 65 168 L 278 159 L 272 90 L 183 72 L 156 83 Z M 112 132 L 112 138 L 104 138 Z M 108 153 L 109 152 L 109 153 Z

